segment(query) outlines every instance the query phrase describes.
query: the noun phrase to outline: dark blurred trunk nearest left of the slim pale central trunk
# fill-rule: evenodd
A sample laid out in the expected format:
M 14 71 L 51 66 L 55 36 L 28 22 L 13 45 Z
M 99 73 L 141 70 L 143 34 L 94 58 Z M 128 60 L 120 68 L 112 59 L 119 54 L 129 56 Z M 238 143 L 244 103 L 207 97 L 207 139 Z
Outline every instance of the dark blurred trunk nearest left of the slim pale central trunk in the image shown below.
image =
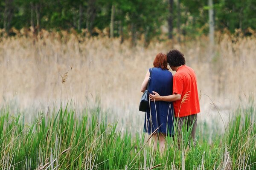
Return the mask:
M 95 0 L 89 0 L 88 1 L 88 7 L 86 12 L 86 28 L 89 32 L 89 34 L 92 34 L 93 30 L 93 22 L 96 17 L 96 6 L 95 6 Z

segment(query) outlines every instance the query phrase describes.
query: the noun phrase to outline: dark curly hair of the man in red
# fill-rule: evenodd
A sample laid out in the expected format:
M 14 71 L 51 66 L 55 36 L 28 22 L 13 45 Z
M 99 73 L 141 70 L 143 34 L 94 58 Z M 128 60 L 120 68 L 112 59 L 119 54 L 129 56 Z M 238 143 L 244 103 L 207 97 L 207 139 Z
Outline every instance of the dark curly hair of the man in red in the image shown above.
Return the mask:
M 166 55 L 167 55 L 167 62 L 172 67 L 178 67 L 186 64 L 184 55 L 178 50 L 171 50 Z

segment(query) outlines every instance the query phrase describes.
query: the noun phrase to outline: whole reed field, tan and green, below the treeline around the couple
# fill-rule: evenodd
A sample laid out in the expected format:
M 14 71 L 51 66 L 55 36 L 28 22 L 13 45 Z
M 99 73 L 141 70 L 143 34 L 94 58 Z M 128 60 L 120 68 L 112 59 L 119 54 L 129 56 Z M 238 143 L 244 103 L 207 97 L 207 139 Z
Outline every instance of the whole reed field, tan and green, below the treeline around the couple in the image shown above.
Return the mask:
M 144 48 L 67 31 L 16 34 L 0 37 L 3 170 L 256 169 L 255 33 L 217 33 L 213 48 L 207 37 Z M 197 74 L 198 145 L 185 138 L 178 150 L 168 139 L 161 156 L 148 147 L 138 103 L 155 55 L 172 48 Z

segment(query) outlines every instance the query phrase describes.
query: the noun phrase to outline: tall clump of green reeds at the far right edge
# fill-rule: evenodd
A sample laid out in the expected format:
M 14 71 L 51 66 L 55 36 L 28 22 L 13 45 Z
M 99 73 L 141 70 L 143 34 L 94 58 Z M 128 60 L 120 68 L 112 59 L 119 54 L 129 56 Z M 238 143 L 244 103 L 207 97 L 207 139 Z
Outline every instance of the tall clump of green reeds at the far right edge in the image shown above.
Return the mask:
M 230 120 L 224 145 L 230 150 L 234 169 L 256 169 L 256 110 L 250 100 L 247 108 L 239 107 Z

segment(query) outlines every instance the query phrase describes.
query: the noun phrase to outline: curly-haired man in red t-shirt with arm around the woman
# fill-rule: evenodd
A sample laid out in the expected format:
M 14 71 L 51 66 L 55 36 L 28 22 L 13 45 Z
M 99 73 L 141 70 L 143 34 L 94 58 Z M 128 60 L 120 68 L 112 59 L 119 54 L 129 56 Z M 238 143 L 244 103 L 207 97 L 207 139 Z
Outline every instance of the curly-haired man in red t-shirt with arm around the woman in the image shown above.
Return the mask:
M 173 102 L 178 133 L 181 134 L 184 123 L 188 128 L 192 127 L 190 136 L 195 146 L 197 113 L 200 112 L 195 71 L 186 66 L 184 55 L 178 50 L 171 50 L 167 53 L 167 62 L 171 69 L 176 71 L 173 77 L 173 94 L 160 96 L 153 91 L 153 94 L 150 94 L 150 100 Z

